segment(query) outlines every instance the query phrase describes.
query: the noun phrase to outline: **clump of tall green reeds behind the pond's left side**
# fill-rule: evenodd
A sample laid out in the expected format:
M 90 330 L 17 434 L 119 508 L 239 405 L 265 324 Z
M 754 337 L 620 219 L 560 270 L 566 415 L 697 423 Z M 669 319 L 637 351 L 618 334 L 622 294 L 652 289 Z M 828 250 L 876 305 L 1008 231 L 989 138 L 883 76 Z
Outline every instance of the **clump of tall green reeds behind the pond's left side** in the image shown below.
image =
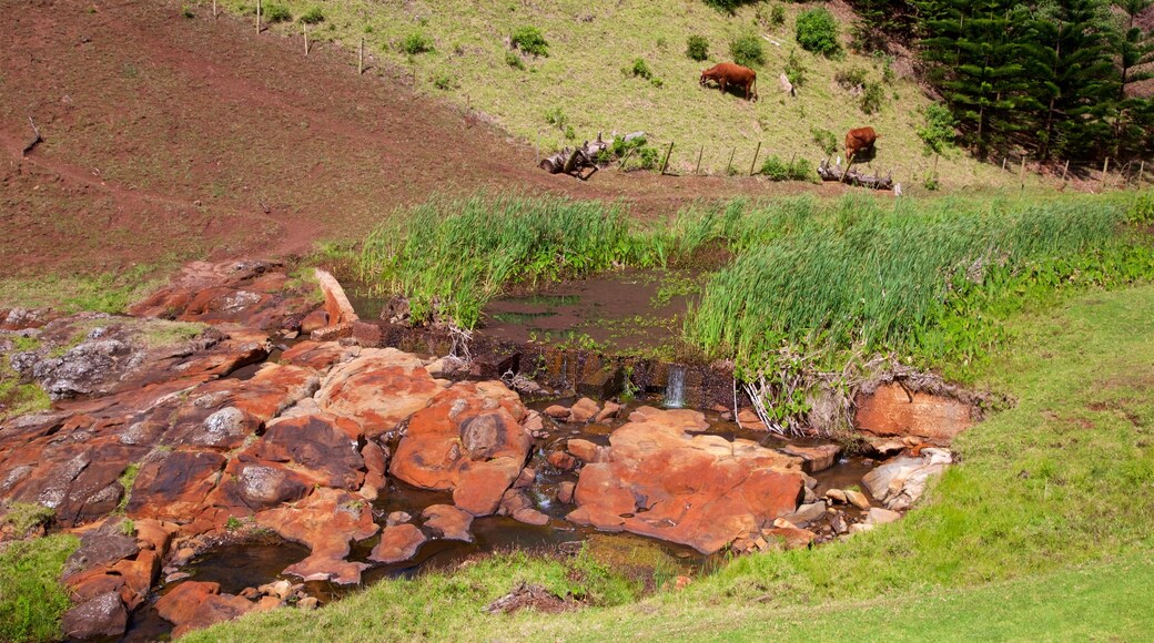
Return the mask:
M 620 205 L 557 197 L 434 197 L 365 241 L 364 281 L 409 298 L 413 318 L 464 328 L 514 283 L 664 264 L 666 237 L 630 229 Z

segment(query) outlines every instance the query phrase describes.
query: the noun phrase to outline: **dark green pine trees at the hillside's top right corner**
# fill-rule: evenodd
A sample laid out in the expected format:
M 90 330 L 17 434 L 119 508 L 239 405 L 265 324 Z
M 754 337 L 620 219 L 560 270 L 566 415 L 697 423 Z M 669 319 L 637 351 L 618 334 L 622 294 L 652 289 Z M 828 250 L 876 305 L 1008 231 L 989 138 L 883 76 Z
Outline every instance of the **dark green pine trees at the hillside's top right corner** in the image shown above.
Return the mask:
M 857 46 L 912 45 L 980 156 L 1042 161 L 1154 152 L 1154 0 L 857 0 Z M 1145 12 L 1145 13 L 1144 13 Z M 1149 27 L 1147 24 L 1146 27 Z

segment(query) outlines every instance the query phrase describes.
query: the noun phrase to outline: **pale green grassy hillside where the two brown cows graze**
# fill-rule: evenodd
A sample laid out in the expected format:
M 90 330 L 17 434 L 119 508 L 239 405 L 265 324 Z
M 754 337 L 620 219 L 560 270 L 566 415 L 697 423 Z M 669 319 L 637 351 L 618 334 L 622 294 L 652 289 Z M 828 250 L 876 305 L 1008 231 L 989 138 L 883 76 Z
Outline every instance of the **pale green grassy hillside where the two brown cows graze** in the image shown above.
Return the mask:
M 242 14 L 255 10 L 252 0 L 225 0 L 225 5 Z M 913 80 L 901 77 L 899 70 L 908 66 L 893 66 L 891 77 L 885 73 L 890 63 L 881 58 L 849 52 L 844 59 L 827 59 L 797 46 L 796 16 L 823 6 L 838 15 L 846 48 L 853 14 L 838 2 L 759 2 L 733 15 L 699 0 L 283 0 L 265 6 L 270 16 L 286 10 L 280 15 L 291 21 L 273 29 L 298 39 L 301 16 L 316 8 L 314 17 L 323 15 L 323 21 L 310 27 L 313 38 L 354 51 L 364 37 L 370 73 L 411 76 L 419 90 L 469 104 L 529 143 L 539 141 L 542 151 L 570 143 L 569 128 L 577 143 L 598 131 L 644 130 L 658 146 L 675 143 L 670 167 L 676 172 L 692 172 L 702 153 L 703 172 L 724 173 L 735 151 L 735 169 L 747 173 L 759 142 L 763 159 L 778 154 L 788 161 L 796 153 L 816 165 L 825 152 L 814 141 L 814 128 L 832 131 L 840 149 L 847 129 L 870 124 L 882 134 L 876 169 L 892 172 L 905 187 L 916 188 L 934 165 L 916 135 L 924 122 L 920 111 L 929 100 Z M 780 24 L 773 23 L 774 7 L 781 9 Z M 524 27 L 544 33 L 547 56 L 510 53 L 510 35 Z M 755 65 L 762 100 L 751 104 L 700 88 L 700 71 L 733 60 L 730 41 L 750 33 L 765 54 L 764 63 Z M 709 41 L 707 61 L 687 56 L 690 36 Z M 778 83 L 790 52 L 807 70 L 796 98 L 786 96 Z M 653 80 L 632 74 L 638 59 Z M 350 61 L 355 65 L 355 54 Z M 853 69 L 882 88 L 878 113 L 863 113 L 861 98 L 834 81 L 839 70 Z M 960 152 L 943 158 L 938 173 L 946 189 L 1017 184 L 1014 173 L 976 164 Z

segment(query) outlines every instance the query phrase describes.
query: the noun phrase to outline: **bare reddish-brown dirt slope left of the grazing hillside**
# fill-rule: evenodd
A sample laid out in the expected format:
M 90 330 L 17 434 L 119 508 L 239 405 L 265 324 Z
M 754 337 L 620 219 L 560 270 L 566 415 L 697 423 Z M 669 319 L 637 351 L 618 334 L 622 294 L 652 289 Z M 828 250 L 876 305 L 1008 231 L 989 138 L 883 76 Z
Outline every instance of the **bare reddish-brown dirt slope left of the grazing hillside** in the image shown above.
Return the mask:
M 600 172 L 582 183 L 398 70 L 194 7 L 38 1 L 0 12 L 0 260 L 13 273 L 307 251 L 432 194 L 698 198 L 838 187 Z M 383 71 L 383 75 L 381 75 Z M 396 76 L 394 76 L 396 73 Z M 21 156 L 31 137 L 44 141 Z

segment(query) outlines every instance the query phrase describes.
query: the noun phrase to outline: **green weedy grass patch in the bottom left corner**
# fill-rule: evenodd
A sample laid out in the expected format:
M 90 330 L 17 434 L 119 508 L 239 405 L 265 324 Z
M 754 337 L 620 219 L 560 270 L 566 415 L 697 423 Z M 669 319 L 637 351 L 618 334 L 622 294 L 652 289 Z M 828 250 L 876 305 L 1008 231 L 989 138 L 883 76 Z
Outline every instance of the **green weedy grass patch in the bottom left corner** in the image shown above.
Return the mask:
M 58 641 L 60 618 L 72 607 L 59 582 L 80 538 L 57 534 L 17 540 L 0 551 L 0 641 Z

